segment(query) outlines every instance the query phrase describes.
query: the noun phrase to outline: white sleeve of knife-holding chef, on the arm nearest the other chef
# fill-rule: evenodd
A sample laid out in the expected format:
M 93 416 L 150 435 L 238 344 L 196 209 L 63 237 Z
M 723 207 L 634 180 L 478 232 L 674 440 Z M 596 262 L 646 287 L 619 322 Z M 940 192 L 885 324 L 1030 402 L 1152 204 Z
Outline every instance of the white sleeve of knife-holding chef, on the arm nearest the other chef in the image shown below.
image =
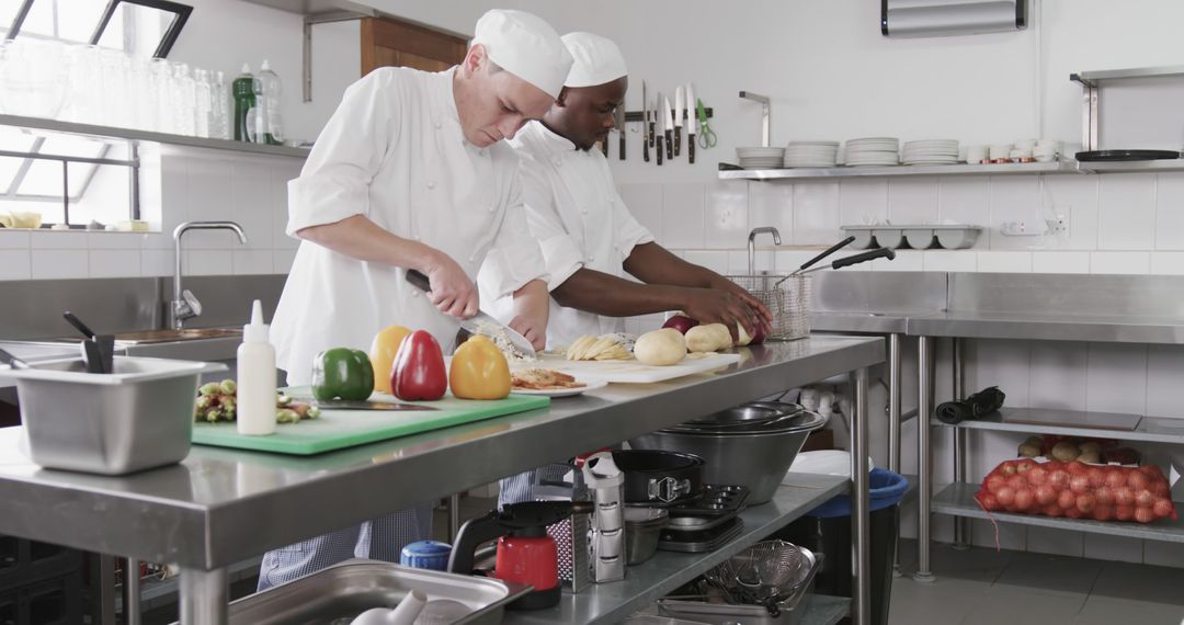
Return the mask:
M 506 217 L 494 236 L 483 263 L 483 276 L 494 297 L 506 297 L 533 279 L 547 282 L 547 268 L 539 241 L 527 226 L 522 206 L 522 183 L 517 170 L 510 180 Z

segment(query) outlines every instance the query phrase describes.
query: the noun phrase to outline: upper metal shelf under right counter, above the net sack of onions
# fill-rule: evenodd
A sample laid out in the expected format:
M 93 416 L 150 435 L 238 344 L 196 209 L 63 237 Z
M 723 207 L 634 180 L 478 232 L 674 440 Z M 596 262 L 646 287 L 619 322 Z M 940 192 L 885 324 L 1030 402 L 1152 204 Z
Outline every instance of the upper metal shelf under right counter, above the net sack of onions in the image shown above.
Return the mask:
M 931 419 L 929 424 L 942 427 L 963 427 L 969 430 L 993 430 L 998 432 L 1022 432 L 1031 434 L 1061 434 L 1088 438 L 1113 438 L 1118 440 L 1141 440 L 1146 443 L 1184 443 L 1184 419 L 1165 419 L 1156 417 L 1143 417 L 1134 430 L 1112 430 L 1103 427 L 1090 427 L 1090 421 L 1105 419 L 1107 413 L 1092 413 L 1064 410 L 1043 408 L 1004 408 L 1003 412 L 1015 419 L 1024 419 L 1027 415 L 1056 417 L 1066 423 L 1080 423 L 1080 426 L 1044 425 L 1030 423 L 1004 421 L 1002 414 L 992 414 L 983 419 L 963 421 L 958 425 L 948 425 Z

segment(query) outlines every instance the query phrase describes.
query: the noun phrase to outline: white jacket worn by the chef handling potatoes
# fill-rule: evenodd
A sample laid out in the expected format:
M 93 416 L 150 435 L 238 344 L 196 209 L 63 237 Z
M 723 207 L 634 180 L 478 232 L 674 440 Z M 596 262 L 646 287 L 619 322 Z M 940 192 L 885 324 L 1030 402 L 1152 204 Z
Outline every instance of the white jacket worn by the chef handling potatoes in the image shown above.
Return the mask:
M 652 241 L 654 236 L 620 199 L 600 150 L 577 149 L 541 122 L 526 124 L 509 143 L 521 159 L 527 223 L 547 262 L 547 288 L 556 289 L 580 268 L 625 278 L 623 264 L 633 246 Z M 483 270 L 481 278 L 487 299 L 503 282 L 494 271 Z M 503 321 L 508 321 L 509 302 L 503 298 L 493 307 Z M 623 318 L 565 308 L 552 298 L 547 344 L 567 346 L 580 336 L 623 331 L 624 327 Z

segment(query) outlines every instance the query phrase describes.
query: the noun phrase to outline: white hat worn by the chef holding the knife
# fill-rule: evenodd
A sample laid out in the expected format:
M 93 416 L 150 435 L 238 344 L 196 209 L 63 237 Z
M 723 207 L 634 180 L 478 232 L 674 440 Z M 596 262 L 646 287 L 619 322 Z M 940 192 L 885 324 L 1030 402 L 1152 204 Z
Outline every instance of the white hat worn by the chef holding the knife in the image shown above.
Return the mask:
M 572 69 L 559 33 L 533 13 L 495 8 L 477 20 L 474 44 L 485 46 L 489 59 L 503 70 L 559 97 Z

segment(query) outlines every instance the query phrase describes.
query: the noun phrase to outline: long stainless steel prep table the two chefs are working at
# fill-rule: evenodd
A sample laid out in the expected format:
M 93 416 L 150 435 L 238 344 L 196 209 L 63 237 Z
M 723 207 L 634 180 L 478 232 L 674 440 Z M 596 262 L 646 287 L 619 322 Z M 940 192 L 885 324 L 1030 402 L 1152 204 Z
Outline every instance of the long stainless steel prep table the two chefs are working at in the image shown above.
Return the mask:
M 867 623 L 867 368 L 883 341 L 813 336 L 744 350 L 714 374 L 611 385 L 547 410 L 297 458 L 194 447 L 124 477 L 41 470 L 0 431 L 0 533 L 181 567 L 182 623 L 223 624 L 226 566 L 320 533 L 852 372 L 856 623 Z M 862 460 L 862 462 L 861 462 Z M 374 494 L 382 494 L 375 497 Z

